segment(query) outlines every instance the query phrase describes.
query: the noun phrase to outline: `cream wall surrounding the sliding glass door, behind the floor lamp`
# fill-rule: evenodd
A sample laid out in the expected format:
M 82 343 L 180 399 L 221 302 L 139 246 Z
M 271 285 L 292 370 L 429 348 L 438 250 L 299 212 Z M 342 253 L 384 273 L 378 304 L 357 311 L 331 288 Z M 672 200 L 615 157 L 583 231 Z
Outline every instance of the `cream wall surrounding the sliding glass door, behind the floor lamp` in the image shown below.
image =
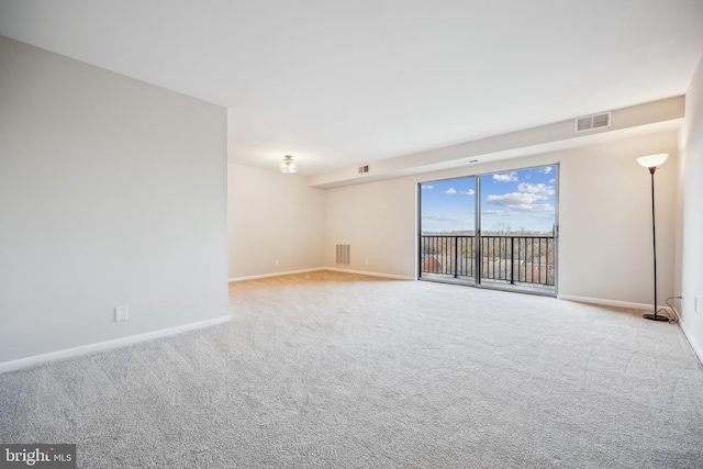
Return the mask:
M 416 276 L 416 185 L 521 167 L 560 165 L 559 293 L 623 304 L 651 304 L 651 199 L 647 169 L 636 158 L 670 153 L 657 171 L 660 303 L 674 294 L 677 132 L 628 132 L 595 146 L 451 171 L 326 191 L 325 266 L 335 244 L 352 245 L 350 270 Z M 365 265 L 366 258 L 369 265 Z

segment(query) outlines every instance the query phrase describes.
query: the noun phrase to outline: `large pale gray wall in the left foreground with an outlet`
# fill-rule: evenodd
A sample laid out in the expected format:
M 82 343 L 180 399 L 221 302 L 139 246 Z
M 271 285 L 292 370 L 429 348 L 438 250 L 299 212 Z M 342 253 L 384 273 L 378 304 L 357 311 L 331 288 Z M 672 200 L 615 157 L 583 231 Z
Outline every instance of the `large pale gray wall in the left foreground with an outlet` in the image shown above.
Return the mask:
M 3 37 L 0 102 L 0 362 L 226 316 L 224 109 Z

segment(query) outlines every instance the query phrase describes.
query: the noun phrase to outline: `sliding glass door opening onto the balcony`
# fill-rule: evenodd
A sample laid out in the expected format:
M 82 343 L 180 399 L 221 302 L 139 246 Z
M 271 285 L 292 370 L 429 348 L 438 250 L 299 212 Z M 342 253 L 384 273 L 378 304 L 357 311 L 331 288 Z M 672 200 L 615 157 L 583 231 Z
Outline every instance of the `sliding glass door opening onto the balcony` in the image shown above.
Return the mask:
M 420 185 L 420 278 L 556 293 L 558 166 Z

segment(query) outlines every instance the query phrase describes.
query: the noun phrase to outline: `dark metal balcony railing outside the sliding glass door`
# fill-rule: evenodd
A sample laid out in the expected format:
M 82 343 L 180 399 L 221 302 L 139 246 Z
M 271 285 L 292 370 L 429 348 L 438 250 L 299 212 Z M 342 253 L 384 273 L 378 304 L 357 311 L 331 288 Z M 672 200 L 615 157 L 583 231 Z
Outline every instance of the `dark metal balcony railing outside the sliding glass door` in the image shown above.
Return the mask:
M 554 287 L 554 236 L 420 236 L 420 272 Z M 479 280 L 479 281 L 480 281 Z

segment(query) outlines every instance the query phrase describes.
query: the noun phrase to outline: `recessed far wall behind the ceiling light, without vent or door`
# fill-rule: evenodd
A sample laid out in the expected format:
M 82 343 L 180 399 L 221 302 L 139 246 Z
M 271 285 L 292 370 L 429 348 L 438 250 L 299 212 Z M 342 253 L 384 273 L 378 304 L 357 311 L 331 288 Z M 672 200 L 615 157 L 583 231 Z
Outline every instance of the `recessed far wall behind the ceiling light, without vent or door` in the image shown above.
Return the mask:
M 227 180 L 230 279 L 322 268 L 321 189 L 297 174 L 235 164 Z

